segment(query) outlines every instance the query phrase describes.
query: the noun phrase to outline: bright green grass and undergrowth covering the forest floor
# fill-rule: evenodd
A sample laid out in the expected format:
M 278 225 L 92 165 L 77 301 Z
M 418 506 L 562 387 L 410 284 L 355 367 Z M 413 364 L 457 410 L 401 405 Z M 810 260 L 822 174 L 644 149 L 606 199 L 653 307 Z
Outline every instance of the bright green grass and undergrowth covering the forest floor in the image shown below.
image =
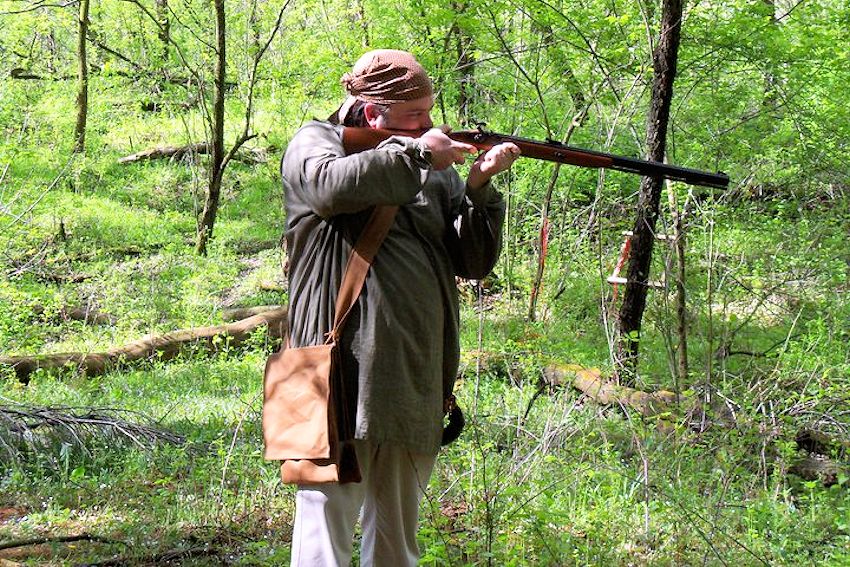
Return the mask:
M 176 107 L 143 114 L 126 106 L 117 78 L 103 81 L 89 149 L 73 160 L 68 85 L 0 87 L 0 172 L 9 166 L 0 200 L 12 213 L 0 218 L 0 355 L 95 352 L 220 323 L 227 306 L 285 302 L 285 293 L 259 285 L 283 280 L 280 153 L 260 166 L 230 166 L 215 238 L 198 257 L 205 158 L 117 164 L 150 145 L 198 139 L 197 115 L 181 119 Z M 287 96 L 275 91 L 261 104 L 264 140 L 285 143 L 304 115 L 302 95 L 284 106 Z M 238 108 L 229 106 L 228 116 L 233 136 Z M 552 360 L 610 374 L 601 307 L 613 297 L 604 277 L 629 207 L 617 186 L 600 204 L 598 232 L 588 231 L 592 192 L 561 196 L 537 321 L 528 322 L 538 231 L 532 194 L 546 176 L 523 167 L 510 188 L 515 217 L 497 287 L 482 298 L 483 312 L 476 298 L 463 301 L 457 391 L 469 425 L 441 455 L 423 502 L 423 563 L 847 564 L 846 474 L 826 487 L 788 470 L 799 429 L 846 438 L 850 426 L 846 202 L 700 203 L 688 225 L 691 375 L 682 389 L 712 404 L 704 420 L 681 409 L 662 423 L 568 387 L 537 395 Z M 582 173 L 582 183 L 591 177 Z M 84 277 L 59 277 L 69 274 Z M 78 305 L 114 320 L 85 325 L 63 315 Z M 669 302 L 651 292 L 641 387 L 673 386 L 672 328 Z M 720 356 L 721 346 L 738 353 Z M 185 564 L 286 563 L 293 491 L 261 454 L 261 374 L 272 347 L 258 335 L 239 348 L 189 351 L 99 377 L 38 372 L 26 386 L 6 369 L 0 405 L 138 412 L 127 415 L 186 441 L 142 450 L 97 435 L 83 450 L 48 436 L 39 451 L 1 453 L 0 541 L 89 533 L 113 542 L 15 555 L 33 565 L 203 546 L 215 553 Z M 730 412 L 734 427 L 723 421 Z

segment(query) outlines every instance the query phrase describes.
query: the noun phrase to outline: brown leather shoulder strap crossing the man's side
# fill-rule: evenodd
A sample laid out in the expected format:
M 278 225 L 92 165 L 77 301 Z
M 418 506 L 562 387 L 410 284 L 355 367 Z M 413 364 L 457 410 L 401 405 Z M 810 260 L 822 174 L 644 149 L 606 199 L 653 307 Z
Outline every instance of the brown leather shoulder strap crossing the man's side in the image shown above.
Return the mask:
M 363 290 L 366 273 L 375 260 L 378 248 L 381 247 L 381 243 L 390 231 L 397 211 L 397 206 L 381 205 L 375 207 L 369 222 L 366 223 L 366 228 L 363 229 L 357 239 L 354 250 L 348 257 L 348 264 L 345 267 L 345 274 L 339 287 L 334 310 L 334 328 L 328 336 L 328 342 L 339 337 L 349 311 L 351 311 Z

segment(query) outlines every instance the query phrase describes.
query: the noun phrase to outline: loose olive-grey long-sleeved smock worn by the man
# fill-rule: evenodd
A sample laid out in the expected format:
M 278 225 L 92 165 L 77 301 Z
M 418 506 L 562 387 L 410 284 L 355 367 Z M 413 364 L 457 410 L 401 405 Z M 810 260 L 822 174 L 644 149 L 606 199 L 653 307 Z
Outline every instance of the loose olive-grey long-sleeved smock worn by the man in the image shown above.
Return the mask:
M 493 268 L 505 205 L 489 186 L 473 202 L 457 172 L 431 170 L 421 149 L 395 137 L 346 156 L 339 126 L 310 122 L 281 172 L 293 347 L 324 342 L 372 207 L 400 206 L 342 333 L 342 366 L 357 392 L 356 438 L 435 453 L 459 362 L 455 276 Z

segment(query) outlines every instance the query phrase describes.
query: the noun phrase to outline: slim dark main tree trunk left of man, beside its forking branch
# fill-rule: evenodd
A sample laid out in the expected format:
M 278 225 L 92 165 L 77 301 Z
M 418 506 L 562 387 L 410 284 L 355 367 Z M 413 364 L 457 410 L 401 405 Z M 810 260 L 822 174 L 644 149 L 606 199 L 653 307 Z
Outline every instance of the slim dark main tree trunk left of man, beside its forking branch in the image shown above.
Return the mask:
M 224 0 L 215 0 L 215 37 L 216 37 L 216 67 L 215 67 L 215 100 L 213 101 L 212 116 L 212 159 L 210 160 L 210 177 L 207 188 L 207 198 L 204 211 L 198 223 L 198 254 L 206 256 L 207 243 L 213 235 L 215 217 L 218 213 L 218 202 L 221 194 L 221 177 L 224 173 L 224 89 L 226 74 L 225 54 L 225 22 Z

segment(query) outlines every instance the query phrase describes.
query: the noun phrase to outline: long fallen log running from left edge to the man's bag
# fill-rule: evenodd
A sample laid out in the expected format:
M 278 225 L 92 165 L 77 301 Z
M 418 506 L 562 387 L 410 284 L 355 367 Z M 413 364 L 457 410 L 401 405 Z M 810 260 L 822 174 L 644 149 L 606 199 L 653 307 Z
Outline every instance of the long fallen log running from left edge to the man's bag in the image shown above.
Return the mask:
M 220 340 L 217 340 L 218 337 L 229 339 L 228 344 L 231 346 L 238 345 L 245 341 L 255 329 L 264 325 L 268 326 L 270 336 L 282 337 L 286 329 L 286 309 L 266 311 L 224 325 L 181 329 L 158 336 L 148 335 L 105 352 L 5 356 L 0 357 L 0 365 L 12 367 L 18 380 L 23 383 L 27 383 L 30 374 L 38 369 L 56 370 L 75 367 L 86 376 L 98 376 L 122 364 L 154 356 L 159 360 L 170 360 L 187 346 L 200 346 L 214 350 Z

